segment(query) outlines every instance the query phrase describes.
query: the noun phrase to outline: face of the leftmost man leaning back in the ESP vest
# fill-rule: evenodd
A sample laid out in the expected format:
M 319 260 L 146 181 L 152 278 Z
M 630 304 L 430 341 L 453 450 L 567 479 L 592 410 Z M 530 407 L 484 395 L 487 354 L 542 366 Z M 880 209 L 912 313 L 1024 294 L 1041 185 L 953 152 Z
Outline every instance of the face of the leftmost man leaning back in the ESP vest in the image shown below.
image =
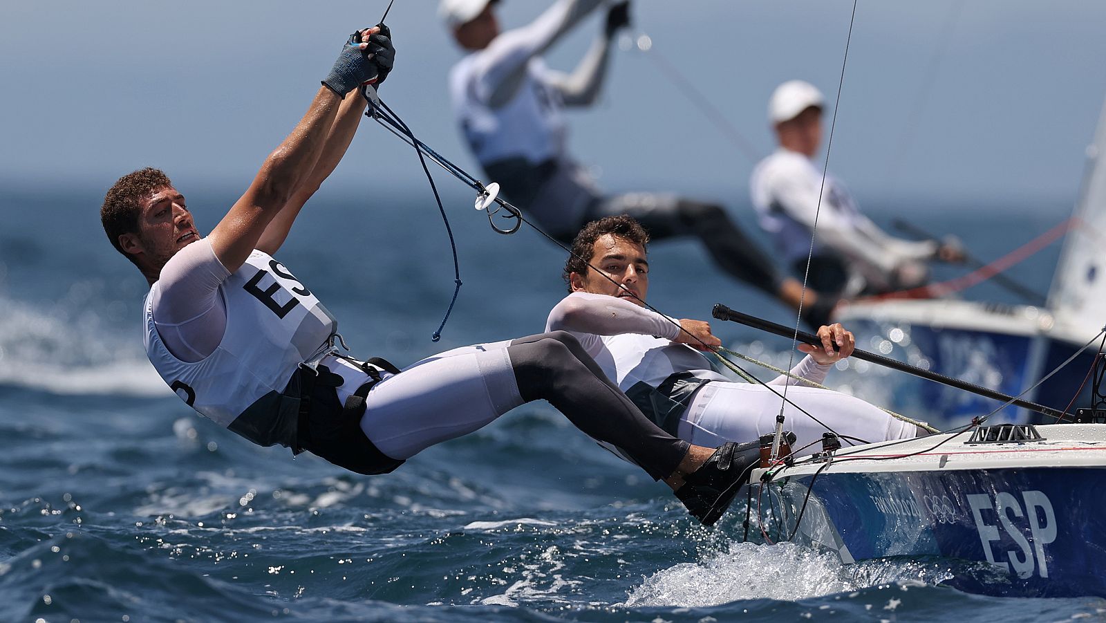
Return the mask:
M 158 188 L 140 203 L 137 235 L 119 237 L 124 250 L 142 253 L 150 266 L 163 267 L 177 251 L 200 239 L 185 196 L 176 188 Z

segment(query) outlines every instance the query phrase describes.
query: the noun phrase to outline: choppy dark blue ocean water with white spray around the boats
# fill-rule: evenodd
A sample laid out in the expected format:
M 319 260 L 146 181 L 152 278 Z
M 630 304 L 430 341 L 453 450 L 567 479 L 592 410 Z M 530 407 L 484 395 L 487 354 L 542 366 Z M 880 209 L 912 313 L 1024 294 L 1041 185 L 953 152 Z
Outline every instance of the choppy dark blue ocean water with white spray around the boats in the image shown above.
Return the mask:
M 950 579 L 987 570 L 959 561 L 844 565 L 742 542 L 741 501 L 703 529 L 543 404 L 383 477 L 254 447 L 194 415 L 145 361 L 145 284 L 102 233 L 103 190 L 0 188 L 0 621 L 1106 619 L 1098 598 L 960 592 Z M 236 198 L 182 190 L 205 230 Z M 324 190 L 301 216 L 279 257 L 354 352 L 404 365 L 539 332 L 563 295 L 562 251 L 532 231 L 497 235 L 467 193 L 445 195 L 465 285 L 438 344 L 452 267 L 428 189 L 372 203 Z M 1070 210 L 974 207 L 896 211 L 991 259 Z M 1057 252 L 1013 274 L 1044 290 Z M 658 243 L 651 260 L 666 313 L 708 318 L 723 302 L 793 322 L 691 242 Z M 1016 300 L 993 284 L 964 294 Z M 785 363 L 786 341 L 716 329 Z

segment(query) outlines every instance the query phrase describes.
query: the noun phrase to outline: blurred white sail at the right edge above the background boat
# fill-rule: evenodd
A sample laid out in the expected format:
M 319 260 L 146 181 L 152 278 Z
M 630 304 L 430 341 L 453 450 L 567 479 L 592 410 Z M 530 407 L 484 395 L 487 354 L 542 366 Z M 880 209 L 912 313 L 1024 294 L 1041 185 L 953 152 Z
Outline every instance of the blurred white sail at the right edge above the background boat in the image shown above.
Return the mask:
M 1048 292 L 1057 326 L 1077 340 L 1094 338 L 1106 325 L 1106 105 L 1087 167 L 1074 220 Z

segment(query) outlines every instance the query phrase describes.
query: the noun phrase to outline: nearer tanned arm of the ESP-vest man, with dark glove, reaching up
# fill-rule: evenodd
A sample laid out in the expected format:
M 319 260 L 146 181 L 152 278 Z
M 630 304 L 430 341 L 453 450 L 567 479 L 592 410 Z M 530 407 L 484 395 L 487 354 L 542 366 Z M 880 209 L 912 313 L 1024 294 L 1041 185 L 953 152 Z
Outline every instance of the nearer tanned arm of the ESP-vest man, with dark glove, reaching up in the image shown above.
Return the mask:
M 373 43 L 357 43 L 353 39 L 343 45 L 307 112 L 265 158 L 246 194 L 208 236 L 212 251 L 228 271 L 233 272 L 242 266 L 269 225 L 311 178 L 337 118 L 343 95 L 380 73 L 371 55 L 379 46 L 374 49 Z

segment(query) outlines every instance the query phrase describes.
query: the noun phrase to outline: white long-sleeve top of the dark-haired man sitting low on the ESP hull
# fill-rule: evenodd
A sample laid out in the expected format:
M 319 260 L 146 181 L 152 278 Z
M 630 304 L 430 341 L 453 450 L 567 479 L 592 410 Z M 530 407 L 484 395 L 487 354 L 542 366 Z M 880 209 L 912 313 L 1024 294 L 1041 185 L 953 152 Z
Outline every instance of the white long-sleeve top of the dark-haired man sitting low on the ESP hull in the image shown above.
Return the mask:
M 572 333 L 624 392 L 641 382 L 657 387 L 679 372 L 690 372 L 707 381 L 731 381 L 712 370 L 701 351 L 672 342 L 680 333 L 679 321 L 625 299 L 573 292 L 550 311 L 545 330 Z M 830 367 L 807 355 L 791 372 L 822 383 Z M 781 374 L 769 384 L 783 385 L 789 381 Z

